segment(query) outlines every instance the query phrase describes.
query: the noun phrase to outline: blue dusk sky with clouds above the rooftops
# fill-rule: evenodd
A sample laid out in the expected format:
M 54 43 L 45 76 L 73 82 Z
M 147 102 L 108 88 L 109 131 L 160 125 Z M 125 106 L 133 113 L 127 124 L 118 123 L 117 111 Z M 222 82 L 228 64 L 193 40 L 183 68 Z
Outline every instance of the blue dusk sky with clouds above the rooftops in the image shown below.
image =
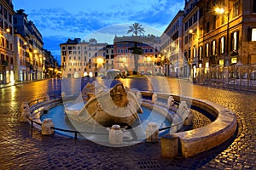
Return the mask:
M 43 36 L 44 48 L 61 62 L 60 43 L 79 37 L 113 43 L 114 35 L 128 36 L 128 26 L 138 22 L 145 35 L 160 36 L 184 0 L 13 0 L 22 8 Z

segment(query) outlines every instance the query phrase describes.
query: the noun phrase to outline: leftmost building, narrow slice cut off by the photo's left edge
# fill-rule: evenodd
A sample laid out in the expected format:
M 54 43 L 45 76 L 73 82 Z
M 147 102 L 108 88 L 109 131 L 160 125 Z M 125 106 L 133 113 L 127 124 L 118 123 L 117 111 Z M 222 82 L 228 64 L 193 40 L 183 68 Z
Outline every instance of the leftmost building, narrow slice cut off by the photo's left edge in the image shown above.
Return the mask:
M 11 0 L 0 1 L 0 84 L 15 82 L 14 6 Z

